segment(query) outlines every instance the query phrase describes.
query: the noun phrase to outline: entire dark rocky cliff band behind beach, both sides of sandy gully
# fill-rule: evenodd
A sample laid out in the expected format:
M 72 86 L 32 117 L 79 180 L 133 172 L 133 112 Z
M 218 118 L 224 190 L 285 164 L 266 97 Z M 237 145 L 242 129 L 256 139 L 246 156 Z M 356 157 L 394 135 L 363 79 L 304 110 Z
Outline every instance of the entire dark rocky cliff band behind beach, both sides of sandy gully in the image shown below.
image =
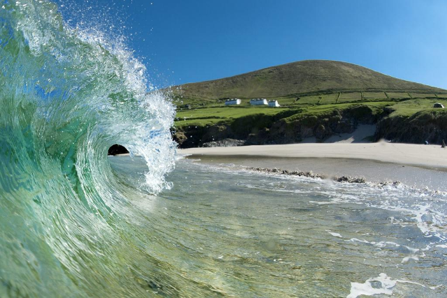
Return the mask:
M 235 119 L 231 124 L 181 127 L 173 133 L 173 139 L 181 148 L 291 144 L 307 137 L 323 142 L 332 135 L 352 133 L 359 124 L 377 124 L 374 140 L 441 144 L 447 139 L 445 110 L 421 110 L 411 116 L 388 117 L 392 112 L 391 107 L 372 110 L 359 104 L 317 115 L 299 114 L 295 110 L 274 116 L 254 114 Z M 237 140 L 237 143 L 224 140 Z

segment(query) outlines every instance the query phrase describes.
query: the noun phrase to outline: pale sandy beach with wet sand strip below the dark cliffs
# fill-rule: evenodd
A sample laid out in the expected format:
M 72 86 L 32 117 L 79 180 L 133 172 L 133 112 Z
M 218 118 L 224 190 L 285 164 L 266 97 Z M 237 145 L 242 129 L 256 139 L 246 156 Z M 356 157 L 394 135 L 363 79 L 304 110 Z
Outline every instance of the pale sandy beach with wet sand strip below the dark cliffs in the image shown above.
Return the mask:
M 283 144 L 181 149 L 200 163 L 313 171 L 401 181 L 417 188 L 447 191 L 447 149 L 438 145 L 378 143 Z

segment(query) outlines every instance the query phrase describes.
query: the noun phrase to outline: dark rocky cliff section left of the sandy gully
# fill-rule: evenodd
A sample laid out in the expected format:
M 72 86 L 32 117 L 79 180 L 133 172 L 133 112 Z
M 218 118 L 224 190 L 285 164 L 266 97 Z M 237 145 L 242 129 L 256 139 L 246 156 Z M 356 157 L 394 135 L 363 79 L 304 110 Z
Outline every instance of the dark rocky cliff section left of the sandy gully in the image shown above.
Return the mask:
M 318 142 L 323 142 L 331 135 L 352 133 L 358 124 L 375 124 L 390 112 L 392 110 L 378 112 L 366 105 L 355 105 L 318 115 L 300 115 L 293 110 L 276 115 L 254 114 L 235 119 L 231 124 L 181 127 L 173 132 L 173 139 L 181 148 L 235 145 L 221 142 L 227 139 L 239 140 L 237 146 L 242 142 L 244 145 L 291 144 L 306 137 L 316 137 Z

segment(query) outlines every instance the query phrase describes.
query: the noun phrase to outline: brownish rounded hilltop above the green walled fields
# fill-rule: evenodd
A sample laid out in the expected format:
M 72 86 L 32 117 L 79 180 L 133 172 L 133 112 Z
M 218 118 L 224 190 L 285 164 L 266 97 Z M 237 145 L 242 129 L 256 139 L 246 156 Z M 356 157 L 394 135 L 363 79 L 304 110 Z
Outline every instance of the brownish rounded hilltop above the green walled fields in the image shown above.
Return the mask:
M 174 87 L 184 98 L 274 98 L 338 91 L 413 91 L 445 90 L 400 80 L 369 68 L 339 61 L 307 60 L 226 77 L 220 80 Z

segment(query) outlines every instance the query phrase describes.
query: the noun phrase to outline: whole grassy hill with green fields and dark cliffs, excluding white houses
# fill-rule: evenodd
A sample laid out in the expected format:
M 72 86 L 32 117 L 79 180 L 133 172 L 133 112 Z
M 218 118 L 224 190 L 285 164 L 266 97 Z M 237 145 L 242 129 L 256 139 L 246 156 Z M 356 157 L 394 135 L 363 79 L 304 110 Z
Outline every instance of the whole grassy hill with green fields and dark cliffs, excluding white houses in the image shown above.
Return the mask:
M 447 91 L 338 61 L 298 61 L 221 80 L 170 89 L 177 105 L 175 139 L 197 147 L 225 139 L 245 144 L 323 141 L 376 124 L 376 135 L 399 142 L 447 140 Z M 226 106 L 226 98 L 241 105 Z M 281 107 L 251 106 L 250 98 Z

